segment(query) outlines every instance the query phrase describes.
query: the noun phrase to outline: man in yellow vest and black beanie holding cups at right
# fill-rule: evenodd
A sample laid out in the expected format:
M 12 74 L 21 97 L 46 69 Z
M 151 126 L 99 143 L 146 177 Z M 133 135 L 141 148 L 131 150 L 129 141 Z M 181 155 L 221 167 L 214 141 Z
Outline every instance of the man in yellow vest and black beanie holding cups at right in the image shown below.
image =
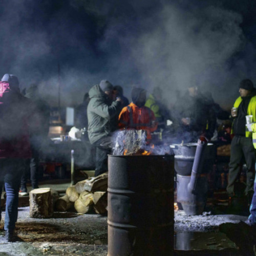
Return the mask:
M 231 141 L 227 194 L 231 198 L 231 203 L 232 198 L 238 196 L 238 191 L 234 190 L 234 184 L 239 176 L 241 161 L 244 157 L 247 165 L 244 194 L 250 203 L 255 176 L 255 150 L 252 144 L 252 133 L 246 126 L 246 119 L 248 122 L 256 122 L 256 90 L 250 79 L 240 82 L 239 93 L 240 97 L 234 102 L 231 110 L 231 116 L 234 118 L 231 134 L 234 134 L 234 137 Z

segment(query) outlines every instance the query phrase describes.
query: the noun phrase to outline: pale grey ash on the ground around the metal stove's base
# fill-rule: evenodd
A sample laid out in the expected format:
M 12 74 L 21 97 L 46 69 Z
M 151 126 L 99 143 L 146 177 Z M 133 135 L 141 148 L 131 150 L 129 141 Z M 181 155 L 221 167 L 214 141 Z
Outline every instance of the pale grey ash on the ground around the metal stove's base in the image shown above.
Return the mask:
M 239 223 L 247 220 L 240 215 L 211 215 L 211 212 L 203 212 L 202 215 L 189 216 L 183 210 L 175 212 L 175 231 L 218 231 L 222 223 Z

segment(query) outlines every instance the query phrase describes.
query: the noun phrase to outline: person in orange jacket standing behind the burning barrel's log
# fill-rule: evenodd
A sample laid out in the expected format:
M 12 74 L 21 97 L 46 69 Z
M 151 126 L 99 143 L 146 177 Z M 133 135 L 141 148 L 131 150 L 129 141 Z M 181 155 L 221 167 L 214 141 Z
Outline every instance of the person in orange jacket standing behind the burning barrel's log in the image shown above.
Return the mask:
M 125 106 L 119 114 L 119 128 L 145 130 L 147 143 L 150 143 L 151 133 L 157 129 L 154 112 L 144 106 L 146 102 L 146 90 L 133 88 L 132 103 Z

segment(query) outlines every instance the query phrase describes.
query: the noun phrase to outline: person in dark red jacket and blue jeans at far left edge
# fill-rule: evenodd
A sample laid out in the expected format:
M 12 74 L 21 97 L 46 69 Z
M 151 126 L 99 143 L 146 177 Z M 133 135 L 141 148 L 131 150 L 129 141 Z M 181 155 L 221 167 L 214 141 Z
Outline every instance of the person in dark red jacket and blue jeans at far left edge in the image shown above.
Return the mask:
M 14 242 L 18 192 L 25 159 L 31 158 L 29 100 L 19 91 L 16 76 L 5 74 L 0 82 L 0 195 L 6 191 L 5 242 Z M 0 210 L 1 218 L 1 210 Z

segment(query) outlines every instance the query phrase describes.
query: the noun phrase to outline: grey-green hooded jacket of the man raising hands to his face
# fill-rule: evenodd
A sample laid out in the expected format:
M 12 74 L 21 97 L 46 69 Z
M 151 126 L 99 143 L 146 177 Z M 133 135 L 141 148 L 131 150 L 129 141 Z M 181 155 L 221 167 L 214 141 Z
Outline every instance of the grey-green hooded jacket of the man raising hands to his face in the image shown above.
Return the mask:
M 120 111 L 121 102 L 111 102 L 99 85 L 89 91 L 90 102 L 87 108 L 88 136 L 91 143 L 111 133 L 113 116 Z M 112 119 L 111 119 L 112 118 Z

